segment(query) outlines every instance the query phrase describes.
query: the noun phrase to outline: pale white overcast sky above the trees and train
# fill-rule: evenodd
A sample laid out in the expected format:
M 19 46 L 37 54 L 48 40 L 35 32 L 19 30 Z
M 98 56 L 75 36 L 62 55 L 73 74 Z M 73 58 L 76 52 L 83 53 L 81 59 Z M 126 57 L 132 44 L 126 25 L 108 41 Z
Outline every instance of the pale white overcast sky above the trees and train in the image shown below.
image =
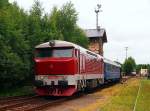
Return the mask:
M 29 10 L 34 0 L 17 1 Z M 83 29 L 96 27 L 96 5 L 101 4 L 99 25 L 106 29 L 108 42 L 104 44 L 104 56 L 124 62 L 127 55 L 137 64 L 150 63 L 150 0 L 39 0 L 45 12 L 53 6 L 61 7 L 71 1 L 78 12 L 77 24 Z

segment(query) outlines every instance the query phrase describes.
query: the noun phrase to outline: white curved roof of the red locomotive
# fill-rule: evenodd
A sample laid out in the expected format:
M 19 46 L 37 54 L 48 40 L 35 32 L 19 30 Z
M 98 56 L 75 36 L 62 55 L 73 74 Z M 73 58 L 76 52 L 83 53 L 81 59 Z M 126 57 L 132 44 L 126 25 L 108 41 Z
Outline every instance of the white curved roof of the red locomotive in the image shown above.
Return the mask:
M 55 45 L 53 47 L 74 47 L 76 49 L 80 49 L 80 51 L 82 51 L 83 53 L 88 53 L 90 55 L 95 55 L 99 58 L 103 58 L 102 56 L 100 56 L 99 54 L 96 54 L 92 51 L 89 51 L 77 44 L 71 43 L 71 42 L 67 42 L 67 41 L 62 41 L 62 40 L 52 40 Z M 49 42 L 45 42 L 42 44 L 37 45 L 35 48 L 50 48 L 51 46 L 49 45 Z

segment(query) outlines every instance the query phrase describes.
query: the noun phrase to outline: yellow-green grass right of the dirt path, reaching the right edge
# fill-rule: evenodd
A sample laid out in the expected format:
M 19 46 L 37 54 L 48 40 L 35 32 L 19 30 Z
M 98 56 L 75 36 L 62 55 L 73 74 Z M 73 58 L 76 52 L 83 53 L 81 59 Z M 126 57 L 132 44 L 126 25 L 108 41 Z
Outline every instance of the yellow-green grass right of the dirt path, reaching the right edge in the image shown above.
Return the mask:
M 150 111 L 150 80 L 146 79 L 130 81 L 124 85 L 100 111 L 133 111 L 140 84 L 141 90 L 135 111 Z

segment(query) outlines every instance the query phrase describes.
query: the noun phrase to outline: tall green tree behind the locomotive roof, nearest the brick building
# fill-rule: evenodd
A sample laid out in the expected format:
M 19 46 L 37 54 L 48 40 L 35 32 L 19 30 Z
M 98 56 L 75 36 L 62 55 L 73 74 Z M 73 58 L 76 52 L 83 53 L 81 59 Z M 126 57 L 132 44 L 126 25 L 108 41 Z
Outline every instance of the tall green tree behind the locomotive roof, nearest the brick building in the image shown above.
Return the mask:
M 88 39 L 84 31 L 77 26 L 77 15 L 71 2 L 64 4 L 60 9 L 54 7 L 50 15 L 52 38 L 74 42 L 87 48 Z

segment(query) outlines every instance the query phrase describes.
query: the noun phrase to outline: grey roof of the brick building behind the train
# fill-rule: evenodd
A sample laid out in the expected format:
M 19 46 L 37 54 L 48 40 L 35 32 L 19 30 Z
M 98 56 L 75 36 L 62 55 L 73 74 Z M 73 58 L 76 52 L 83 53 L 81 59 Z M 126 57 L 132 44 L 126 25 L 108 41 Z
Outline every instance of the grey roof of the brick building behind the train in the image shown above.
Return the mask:
M 105 29 L 86 29 L 84 31 L 88 38 L 102 37 L 103 42 L 107 42 Z

